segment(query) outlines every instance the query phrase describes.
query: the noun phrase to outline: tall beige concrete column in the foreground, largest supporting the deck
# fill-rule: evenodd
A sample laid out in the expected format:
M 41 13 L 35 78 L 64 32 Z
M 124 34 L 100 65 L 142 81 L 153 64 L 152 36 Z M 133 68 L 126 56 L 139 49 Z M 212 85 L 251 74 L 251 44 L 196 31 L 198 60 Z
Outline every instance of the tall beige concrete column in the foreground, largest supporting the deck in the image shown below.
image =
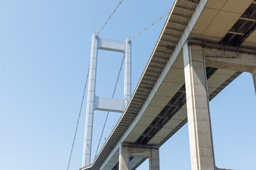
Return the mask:
M 183 45 L 186 107 L 192 170 L 215 169 L 203 51 Z

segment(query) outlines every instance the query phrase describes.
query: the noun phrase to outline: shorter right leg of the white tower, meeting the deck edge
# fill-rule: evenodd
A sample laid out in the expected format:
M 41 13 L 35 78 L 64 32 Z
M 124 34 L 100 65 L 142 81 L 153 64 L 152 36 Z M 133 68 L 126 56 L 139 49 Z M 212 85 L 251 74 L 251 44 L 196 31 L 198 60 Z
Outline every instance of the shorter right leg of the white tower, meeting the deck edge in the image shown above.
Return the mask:
M 124 53 L 124 108 L 126 108 L 131 98 L 131 49 L 132 45 L 129 38 L 125 40 L 125 53 Z

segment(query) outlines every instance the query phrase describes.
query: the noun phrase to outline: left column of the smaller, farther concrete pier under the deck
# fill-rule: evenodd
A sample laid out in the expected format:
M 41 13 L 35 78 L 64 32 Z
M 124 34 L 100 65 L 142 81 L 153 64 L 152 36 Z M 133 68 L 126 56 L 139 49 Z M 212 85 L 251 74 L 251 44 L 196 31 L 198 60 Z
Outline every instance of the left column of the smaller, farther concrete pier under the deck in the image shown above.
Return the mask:
M 129 170 L 129 147 L 119 147 L 119 170 Z

